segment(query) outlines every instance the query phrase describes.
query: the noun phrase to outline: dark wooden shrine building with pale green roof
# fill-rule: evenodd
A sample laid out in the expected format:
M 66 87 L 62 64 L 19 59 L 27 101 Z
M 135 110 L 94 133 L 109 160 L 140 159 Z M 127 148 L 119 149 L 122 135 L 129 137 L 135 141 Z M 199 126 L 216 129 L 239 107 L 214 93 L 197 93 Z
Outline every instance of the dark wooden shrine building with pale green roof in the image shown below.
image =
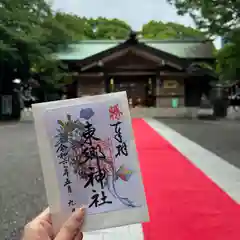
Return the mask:
M 67 97 L 126 91 L 129 102 L 147 107 L 200 105 L 216 74 L 210 40 L 86 40 L 70 44 L 57 58 L 73 72 Z

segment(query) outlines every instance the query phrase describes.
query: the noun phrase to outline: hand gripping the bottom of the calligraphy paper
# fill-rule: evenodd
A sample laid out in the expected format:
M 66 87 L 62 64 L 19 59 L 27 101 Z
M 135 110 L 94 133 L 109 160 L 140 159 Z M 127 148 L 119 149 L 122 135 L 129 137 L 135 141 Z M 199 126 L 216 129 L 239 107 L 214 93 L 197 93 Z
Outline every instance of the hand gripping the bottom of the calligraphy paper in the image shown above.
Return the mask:
M 82 240 L 81 226 L 84 220 L 84 209 L 76 209 L 63 224 L 59 233 L 54 236 L 49 208 L 28 223 L 22 240 Z

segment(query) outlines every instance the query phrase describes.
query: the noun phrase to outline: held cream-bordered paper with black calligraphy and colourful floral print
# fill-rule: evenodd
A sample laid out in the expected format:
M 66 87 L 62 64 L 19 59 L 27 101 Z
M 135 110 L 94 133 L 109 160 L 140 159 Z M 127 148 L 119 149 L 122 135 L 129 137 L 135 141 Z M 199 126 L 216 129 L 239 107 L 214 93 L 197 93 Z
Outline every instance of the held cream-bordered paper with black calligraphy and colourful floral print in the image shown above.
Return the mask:
M 33 113 L 55 229 L 82 205 L 85 231 L 148 220 L 125 92 L 35 104 Z

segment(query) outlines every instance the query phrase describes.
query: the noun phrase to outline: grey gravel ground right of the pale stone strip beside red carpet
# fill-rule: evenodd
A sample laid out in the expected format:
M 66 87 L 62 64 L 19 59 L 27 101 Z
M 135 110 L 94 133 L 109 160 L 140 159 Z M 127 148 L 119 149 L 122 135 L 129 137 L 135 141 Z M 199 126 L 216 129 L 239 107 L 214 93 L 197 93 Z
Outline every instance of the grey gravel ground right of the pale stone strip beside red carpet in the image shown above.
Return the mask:
M 158 120 L 240 168 L 240 121 Z

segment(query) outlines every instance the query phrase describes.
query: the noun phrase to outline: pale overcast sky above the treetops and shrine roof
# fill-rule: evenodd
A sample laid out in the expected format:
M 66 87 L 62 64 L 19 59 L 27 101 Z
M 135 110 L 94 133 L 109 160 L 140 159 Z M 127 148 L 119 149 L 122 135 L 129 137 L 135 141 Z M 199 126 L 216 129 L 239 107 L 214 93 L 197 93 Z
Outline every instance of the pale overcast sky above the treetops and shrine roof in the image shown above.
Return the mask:
M 166 0 L 52 0 L 54 10 L 74 13 L 79 16 L 97 18 L 119 18 L 126 21 L 133 30 L 150 20 L 176 22 L 194 27 L 189 16 L 178 16 L 174 7 Z M 220 46 L 219 40 L 215 41 Z

